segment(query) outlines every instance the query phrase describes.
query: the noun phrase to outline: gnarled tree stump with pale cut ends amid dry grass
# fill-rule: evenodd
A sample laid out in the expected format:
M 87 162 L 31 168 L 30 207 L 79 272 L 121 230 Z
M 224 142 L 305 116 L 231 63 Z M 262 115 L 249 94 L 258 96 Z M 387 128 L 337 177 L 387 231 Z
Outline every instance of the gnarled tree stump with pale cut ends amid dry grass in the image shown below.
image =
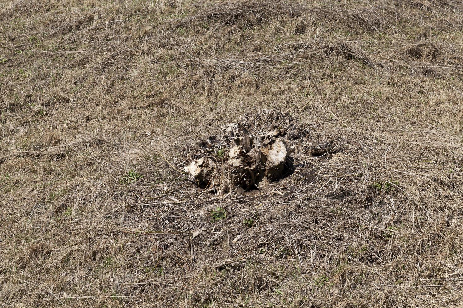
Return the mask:
M 265 109 L 225 125 L 222 136 L 210 136 L 183 149 L 190 180 L 219 196 L 238 188 L 261 189 L 292 171 L 293 154 L 321 156 L 341 149 L 338 139 L 312 146 L 311 133 L 285 112 Z

